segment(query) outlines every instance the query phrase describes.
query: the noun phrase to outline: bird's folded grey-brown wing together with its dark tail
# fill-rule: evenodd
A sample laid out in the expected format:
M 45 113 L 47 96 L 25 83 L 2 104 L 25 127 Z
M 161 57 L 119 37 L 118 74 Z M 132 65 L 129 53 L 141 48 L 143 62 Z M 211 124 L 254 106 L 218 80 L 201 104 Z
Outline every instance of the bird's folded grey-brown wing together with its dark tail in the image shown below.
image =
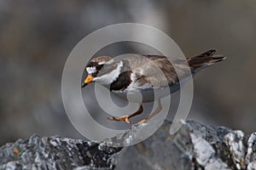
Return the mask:
M 167 59 L 159 55 L 131 55 L 127 58 L 132 72 L 135 74 L 138 88 L 165 88 L 172 86 L 185 77 L 224 60 L 221 55 L 213 55 L 215 49 L 207 50 L 202 54 L 187 59 Z M 178 75 L 178 76 L 177 76 Z

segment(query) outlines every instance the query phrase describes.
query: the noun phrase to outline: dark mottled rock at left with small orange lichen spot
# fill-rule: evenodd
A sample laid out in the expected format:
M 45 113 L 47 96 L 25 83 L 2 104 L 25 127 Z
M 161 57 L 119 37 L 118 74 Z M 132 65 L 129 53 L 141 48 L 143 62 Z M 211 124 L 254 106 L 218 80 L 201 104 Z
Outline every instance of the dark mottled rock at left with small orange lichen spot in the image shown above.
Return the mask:
M 0 169 L 113 169 L 119 150 L 81 139 L 33 135 L 0 148 Z

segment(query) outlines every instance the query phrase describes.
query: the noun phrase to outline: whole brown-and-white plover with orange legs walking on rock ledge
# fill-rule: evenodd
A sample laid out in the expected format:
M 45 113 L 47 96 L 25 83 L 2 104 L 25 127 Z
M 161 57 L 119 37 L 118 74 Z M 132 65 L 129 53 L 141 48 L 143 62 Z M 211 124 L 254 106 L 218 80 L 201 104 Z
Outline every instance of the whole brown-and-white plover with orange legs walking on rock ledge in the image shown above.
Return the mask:
M 125 116 L 108 117 L 109 121 L 124 121 L 128 124 L 131 124 L 131 117 L 143 113 L 143 103 L 157 99 L 156 110 L 137 123 L 147 122 L 162 110 L 160 99 L 168 95 L 166 92 L 161 94 L 164 89 L 168 88 L 169 94 L 173 94 L 180 88 L 180 82 L 187 79 L 186 77 L 194 77 L 198 71 L 226 59 L 223 55 L 214 55 L 215 53 L 216 49 L 209 49 L 185 59 L 150 54 L 126 54 L 121 58 L 98 56 L 85 66 L 87 77 L 82 82 L 82 88 L 90 82 L 98 82 L 122 98 L 127 99 L 127 95 L 141 93 L 143 99 L 137 100 L 136 97 L 133 101 L 139 105 L 136 112 Z M 159 92 L 156 98 L 154 91 Z

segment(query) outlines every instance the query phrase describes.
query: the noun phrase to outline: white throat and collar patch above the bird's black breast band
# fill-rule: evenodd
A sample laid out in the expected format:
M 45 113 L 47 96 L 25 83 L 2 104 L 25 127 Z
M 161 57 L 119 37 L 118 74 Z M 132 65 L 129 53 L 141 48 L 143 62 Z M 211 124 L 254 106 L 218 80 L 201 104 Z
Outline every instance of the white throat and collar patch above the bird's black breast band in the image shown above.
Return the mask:
M 102 85 L 108 85 L 114 82 L 119 77 L 122 67 L 123 61 L 120 61 L 113 71 L 108 72 L 107 74 L 104 74 L 101 77 L 95 77 L 93 80 L 101 83 Z

